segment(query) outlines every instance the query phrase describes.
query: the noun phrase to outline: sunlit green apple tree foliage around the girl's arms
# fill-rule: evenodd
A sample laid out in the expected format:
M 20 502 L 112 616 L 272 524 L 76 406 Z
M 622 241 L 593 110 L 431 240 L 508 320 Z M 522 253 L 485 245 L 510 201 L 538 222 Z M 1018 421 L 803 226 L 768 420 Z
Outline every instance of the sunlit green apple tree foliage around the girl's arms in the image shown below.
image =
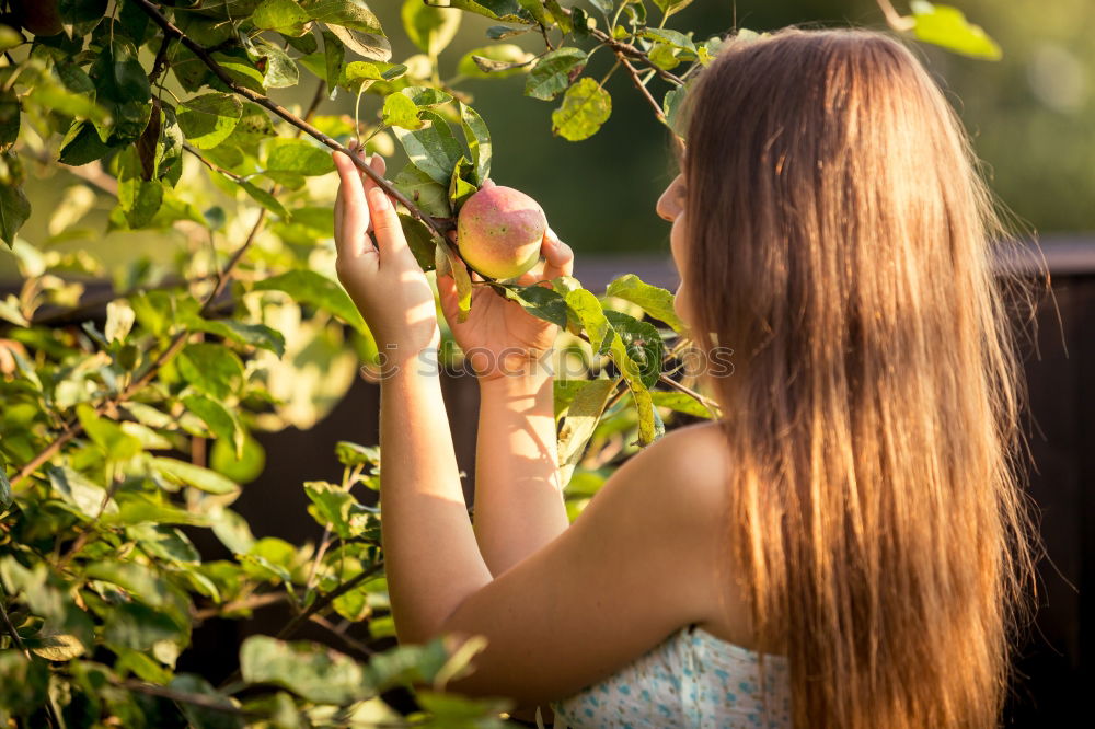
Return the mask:
M 309 427 L 345 393 L 357 359 L 378 356 L 333 277 L 331 151 L 399 142 L 407 164 L 378 182 L 400 200 L 424 268 L 451 269 L 466 308 L 473 284 L 446 233 L 495 150 L 459 82 L 526 74 L 525 93 L 555 105 L 551 131 L 577 141 L 611 115 L 604 81 L 622 70 L 671 127 L 690 79 L 724 43 L 667 26 L 690 1 L 407 0 L 400 31 L 420 53 L 404 59 L 361 0 L 4 3 L 0 238 L 23 282 L 0 301 L 0 721 L 500 724 L 505 701 L 443 693 L 474 644 L 369 657 L 324 617 L 367 622 L 374 639 L 394 634 L 380 511 L 368 505 L 377 449 L 343 442 L 342 481 L 303 484 L 319 544 L 255 539 L 232 504 L 263 468 L 253 432 Z M 999 53 L 957 11 L 913 5 L 901 30 Z M 464 13 L 498 24 L 482 47 L 443 56 Z M 506 43 L 518 34 L 542 37 L 543 51 Z M 612 61 L 599 78 L 589 73 L 598 54 Z M 442 68 L 457 74 L 449 83 Z M 298 85 L 314 90 L 303 108 L 269 95 Z M 356 114 L 316 115 L 336 94 L 351 95 Z M 79 277 L 107 273 L 91 253 L 19 235 L 35 212 L 30 164 L 77 181 L 57 209 L 38 211 L 49 242 L 108 200 L 110 230 L 183 234 L 173 268 L 135 254 L 108 299 L 89 303 Z M 675 372 L 688 343 L 668 291 L 635 276 L 603 296 L 570 277 L 542 284 L 475 285 L 563 327 L 564 356 L 586 372 L 556 383 L 574 516 L 615 455 L 656 439 L 664 417 L 711 417 L 715 406 Z M 194 455 L 198 439 L 212 443 L 208 459 Z M 211 530 L 233 557 L 203 560 L 192 529 Z M 200 622 L 274 602 L 296 617 L 249 638 L 229 684 L 176 671 Z M 306 623 L 327 626 L 347 652 L 293 640 Z M 419 714 L 385 704 L 396 685 L 415 687 Z

